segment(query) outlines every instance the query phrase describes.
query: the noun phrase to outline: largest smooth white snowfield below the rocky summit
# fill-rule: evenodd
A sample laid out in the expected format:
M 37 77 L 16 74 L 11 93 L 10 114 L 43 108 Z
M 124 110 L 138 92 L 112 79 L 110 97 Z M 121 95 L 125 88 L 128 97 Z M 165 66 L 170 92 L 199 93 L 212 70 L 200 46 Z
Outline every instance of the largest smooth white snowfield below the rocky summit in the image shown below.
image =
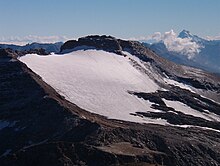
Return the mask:
M 28 54 L 20 60 L 67 100 L 87 111 L 110 119 L 168 124 L 164 119 L 130 115 L 159 110 L 150 108 L 150 103 L 128 91 L 149 93 L 159 87 L 149 76 L 135 69 L 129 57 L 101 50 L 77 50 L 62 55 Z

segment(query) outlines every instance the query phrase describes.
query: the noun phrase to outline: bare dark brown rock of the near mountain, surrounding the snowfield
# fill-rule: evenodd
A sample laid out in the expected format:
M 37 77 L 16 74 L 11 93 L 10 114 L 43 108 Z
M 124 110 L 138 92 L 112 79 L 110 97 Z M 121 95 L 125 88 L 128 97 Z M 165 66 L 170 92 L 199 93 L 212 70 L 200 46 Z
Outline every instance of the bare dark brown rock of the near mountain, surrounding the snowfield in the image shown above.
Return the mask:
M 166 73 L 176 80 L 188 81 L 195 88 L 200 88 L 198 92 L 212 95 L 213 100 L 218 99 L 219 78 L 203 73 L 203 76 L 206 74 L 208 77 L 202 82 L 201 74 L 195 77 L 188 73 L 185 76 L 183 67 L 166 65 L 169 62 L 157 57 L 139 43 L 98 38 L 107 44 L 101 47 L 97 40 L 91 42 L 91 38 L 88 37 L 81 39 L 84 41 L 80 44 L 75 41 L 72 41 L 75 44 L 65 43 L 61 50 L 87 45 L 123 55 L 121 50 L 127 48 L 153 64 L 156 72 Z M 108 42 L 112 42 L 110 45 L 113 47 L 107 47 Z M 171 124 L 199 127 L 183 128 L 109 120 L 65 100 L 25 64 L 17 60 L 17 56 L 13 51 L 1 50 L 1 166 L 220 165 L 220 123 L 180 113 L 180 116 L 174 116 L 176 110 L 164 105 L 161 97 L 191 103 L 192 107 L 206 108 L 220 115 L 217 102 L 172 86 L 169 86 L 172 89 L 169 93 L 130 92 L 132 95 L 153 101 L 157 109 L 167 111 L 166 114 L 147 114 L 143 111 L 134 116 L 165 116 Z M 196 102 L 195 98 L 201 102 Z M 206 130 L 206 127 L 212 130 Z

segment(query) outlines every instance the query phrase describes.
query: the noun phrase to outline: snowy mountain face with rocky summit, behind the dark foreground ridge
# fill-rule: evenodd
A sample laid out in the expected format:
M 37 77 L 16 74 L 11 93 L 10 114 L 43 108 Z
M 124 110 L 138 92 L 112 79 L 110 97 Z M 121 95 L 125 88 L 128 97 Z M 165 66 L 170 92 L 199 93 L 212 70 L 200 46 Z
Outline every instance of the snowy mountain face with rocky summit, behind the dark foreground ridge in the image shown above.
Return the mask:
M 196 125 L 198 122 L 198 126 L 218 129 L 218 103 L 200 96 L 205 95 L 216 101 L 219 99 L 218 77 L 166 61 L 137 42 L 105 36 L 100 38 L 91 36 L 73 41 L 73 48 L 68 48 L 72 50 L 70 53 L 50 56 L 30 54 L 20 60 L 69 101 L 110 119 L 181 125 L 182 122 L 169 123 L 168 116 L 161 118 L 153 115 L 164 115 L 167 110 L 181 112 L 182 115 L 186 114 L 184 111 L 187 109 L 192 112 L 187 114 L 200 118 L 192 118 L 190 124 Z M 110 53 L 97 50 L 103 46 L 100 43 L 108 42 L 113 47 L 104 45 L 103 49 Z M 178 93 L 184 93 L 186 97 L 182 99 L 176 95 Z M 158 99 L 145 98 L 145 94 L 154 98 L 157 95 Z M 178 104 L 171 107 L 163 100 L 176 101 Z M 211 105 L 200 103 L 205 100 Z M 137 114 L 143 110 L 149 114 Z M 184 125 L 188 125 L 184 116 L 179 118 Z

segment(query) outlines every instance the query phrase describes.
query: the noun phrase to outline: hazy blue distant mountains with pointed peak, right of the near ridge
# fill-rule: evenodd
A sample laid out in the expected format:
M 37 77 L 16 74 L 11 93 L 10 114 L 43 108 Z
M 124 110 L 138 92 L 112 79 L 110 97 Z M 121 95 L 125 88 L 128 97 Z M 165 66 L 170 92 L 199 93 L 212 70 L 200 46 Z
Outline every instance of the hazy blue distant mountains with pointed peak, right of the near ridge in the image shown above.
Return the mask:
M 143 43 L 158 55 L 171 60 L 175 63 L 200 68 L 212 73 L 220 73 L 220 40 L 206 40 L 197 35 L 191 34 L 187 30 L 179 33 L 180 39 L 191 39 L 199 45 L 199 52 L 192 58 L 188 58 L 181 52 L 168 50 L 163 40 L 156 43 Z

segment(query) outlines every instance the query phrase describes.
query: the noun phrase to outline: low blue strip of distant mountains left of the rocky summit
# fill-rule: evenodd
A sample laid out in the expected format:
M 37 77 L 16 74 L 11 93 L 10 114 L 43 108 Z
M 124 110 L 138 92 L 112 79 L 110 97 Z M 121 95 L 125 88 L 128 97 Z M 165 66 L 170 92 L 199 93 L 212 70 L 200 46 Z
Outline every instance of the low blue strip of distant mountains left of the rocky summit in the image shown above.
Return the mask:
M 60 47 L 63 44 L 63 42 L 57 42 L 57 43 L 31 43 L 26 44 L 24 46 L 19 45 L 13 45 L 13 44 L 0 44 L 0 49 L 6 49 L 10 48 L 12 50 L 16 51 L 30 51 L 35 49 L 44 49 L 47 53 L 50 52 L 59 52 Z

